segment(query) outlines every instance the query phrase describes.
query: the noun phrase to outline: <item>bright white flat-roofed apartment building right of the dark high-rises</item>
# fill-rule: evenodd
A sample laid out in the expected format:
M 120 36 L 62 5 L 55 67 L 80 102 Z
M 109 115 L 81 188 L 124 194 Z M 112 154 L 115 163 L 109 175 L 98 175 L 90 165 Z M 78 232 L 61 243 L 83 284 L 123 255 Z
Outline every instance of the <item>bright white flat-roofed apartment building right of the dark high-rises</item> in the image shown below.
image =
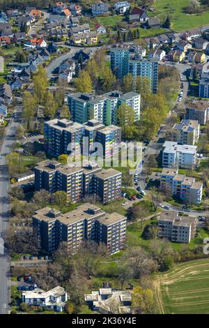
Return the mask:
M 196 146 L 164 142 L 162 151 L 162 167 L 182 167 L 191 169 L 196 163 Z

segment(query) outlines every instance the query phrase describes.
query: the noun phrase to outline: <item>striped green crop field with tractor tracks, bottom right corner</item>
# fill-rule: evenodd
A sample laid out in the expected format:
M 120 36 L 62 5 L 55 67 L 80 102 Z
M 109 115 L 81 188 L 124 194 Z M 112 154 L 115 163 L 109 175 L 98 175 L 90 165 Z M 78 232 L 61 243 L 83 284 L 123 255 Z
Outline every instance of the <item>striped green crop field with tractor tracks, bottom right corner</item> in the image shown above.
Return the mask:
M 178 264 L 155 285 L 161 313 L 209 314 L 209 258 Z

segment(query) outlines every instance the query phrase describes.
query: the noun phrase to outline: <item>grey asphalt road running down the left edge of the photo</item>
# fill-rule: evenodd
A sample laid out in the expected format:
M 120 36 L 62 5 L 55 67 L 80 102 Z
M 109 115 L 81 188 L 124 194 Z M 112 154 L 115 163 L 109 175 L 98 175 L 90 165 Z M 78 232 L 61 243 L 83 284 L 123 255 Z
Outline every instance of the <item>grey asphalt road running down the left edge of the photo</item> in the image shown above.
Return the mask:
M 20 110 L 17 110 L 19 112 Z M 0 236 L 3 238 L 4 232 L 8 228 L 10 204 L 8 202 L 9 176 L 6 168 L 6 155 L 10 153 L 10 146 L 15 142 L 15 131 L 19 124 L 18 119 L 11 119 L 6 131 L 0 151 Z M 8 313 L 8 303 L 10 303 L 10 258 L 4 251 L 0 255 L 0 314 Z

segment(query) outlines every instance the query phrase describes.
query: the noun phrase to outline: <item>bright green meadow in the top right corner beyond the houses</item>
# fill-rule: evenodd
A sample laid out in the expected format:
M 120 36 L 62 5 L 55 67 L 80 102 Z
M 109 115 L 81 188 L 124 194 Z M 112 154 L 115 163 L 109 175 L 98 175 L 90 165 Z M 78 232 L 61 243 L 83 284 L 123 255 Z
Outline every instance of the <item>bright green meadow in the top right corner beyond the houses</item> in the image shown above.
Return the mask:
M 165 20 L 167 15 L 171 16 L 171 28 L 174 31 L 184 31 L 193 27 L 201 27 L 209 24 L 209 11 L 202 14 L 187 15 L 185 8 L 188 6 L 189 0 L 157 0 L 153 5 L 156 9 L 151 15 Z

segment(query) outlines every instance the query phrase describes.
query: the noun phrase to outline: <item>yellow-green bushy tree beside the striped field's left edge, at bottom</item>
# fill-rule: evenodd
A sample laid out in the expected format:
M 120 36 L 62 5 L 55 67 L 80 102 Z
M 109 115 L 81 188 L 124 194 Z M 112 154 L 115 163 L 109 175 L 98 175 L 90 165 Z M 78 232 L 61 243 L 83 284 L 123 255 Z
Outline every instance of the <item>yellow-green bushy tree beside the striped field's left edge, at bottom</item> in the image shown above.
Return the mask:
M 155 299 L 153 291 L 149 288 L 143 289 L 141 286 L 134 287 L 132 292 L 132 308 L 134 313 L 150 314 L 154 312 Z

